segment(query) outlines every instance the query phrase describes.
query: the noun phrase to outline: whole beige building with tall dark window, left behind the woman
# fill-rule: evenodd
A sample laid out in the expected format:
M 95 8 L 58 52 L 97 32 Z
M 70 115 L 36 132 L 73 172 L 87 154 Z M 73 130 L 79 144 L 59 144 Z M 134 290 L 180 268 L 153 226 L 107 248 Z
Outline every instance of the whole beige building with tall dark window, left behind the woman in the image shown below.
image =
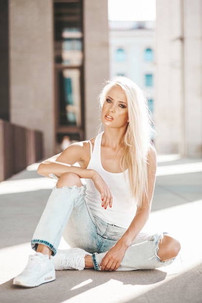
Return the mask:
M 2 119 L 44 133 L 44 153 L 96 135 L 109 78 L 107 0 L 3 0 Z

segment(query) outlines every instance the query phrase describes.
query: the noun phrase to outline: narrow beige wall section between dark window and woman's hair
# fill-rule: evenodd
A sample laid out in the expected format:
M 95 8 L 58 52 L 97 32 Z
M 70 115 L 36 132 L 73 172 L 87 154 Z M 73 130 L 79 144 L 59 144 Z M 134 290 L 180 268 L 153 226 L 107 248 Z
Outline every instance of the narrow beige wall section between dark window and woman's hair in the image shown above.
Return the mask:
M 84 88 L 86 138 L 100 125 L 97 96 L 109 79 L 108 1 L 84 0 Z

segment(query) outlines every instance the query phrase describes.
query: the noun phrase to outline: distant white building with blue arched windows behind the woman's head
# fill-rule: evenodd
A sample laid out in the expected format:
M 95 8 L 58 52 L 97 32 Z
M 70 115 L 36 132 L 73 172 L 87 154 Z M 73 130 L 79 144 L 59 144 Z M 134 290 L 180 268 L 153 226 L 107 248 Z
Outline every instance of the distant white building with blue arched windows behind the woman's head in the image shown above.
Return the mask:
M 155 107 L 155 22 L 109 21 L 109 75 L 123 75 L 146 92 Z

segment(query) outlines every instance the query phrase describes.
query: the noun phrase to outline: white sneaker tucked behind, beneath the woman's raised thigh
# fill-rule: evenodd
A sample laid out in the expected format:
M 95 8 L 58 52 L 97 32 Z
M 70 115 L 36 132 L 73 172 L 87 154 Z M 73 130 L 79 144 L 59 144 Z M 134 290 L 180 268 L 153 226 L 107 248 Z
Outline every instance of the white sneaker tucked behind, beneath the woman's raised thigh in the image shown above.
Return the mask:
M 66 250 L 58 250 L 57 254 L 53 257 L 53 262 L 56 271 L 64 269 L 76 269 L 82 271 L 85 267 L 85 256 L 92 256 L 85 250 L 80 248 L 70 248 Z

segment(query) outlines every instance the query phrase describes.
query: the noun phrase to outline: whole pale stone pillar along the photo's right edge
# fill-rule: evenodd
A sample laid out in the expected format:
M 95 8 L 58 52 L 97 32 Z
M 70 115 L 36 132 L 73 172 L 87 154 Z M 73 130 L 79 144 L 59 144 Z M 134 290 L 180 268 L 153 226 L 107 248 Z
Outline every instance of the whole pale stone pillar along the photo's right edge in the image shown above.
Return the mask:
M 202 157 L 202 1 L 156 0 L 159 153 Z

